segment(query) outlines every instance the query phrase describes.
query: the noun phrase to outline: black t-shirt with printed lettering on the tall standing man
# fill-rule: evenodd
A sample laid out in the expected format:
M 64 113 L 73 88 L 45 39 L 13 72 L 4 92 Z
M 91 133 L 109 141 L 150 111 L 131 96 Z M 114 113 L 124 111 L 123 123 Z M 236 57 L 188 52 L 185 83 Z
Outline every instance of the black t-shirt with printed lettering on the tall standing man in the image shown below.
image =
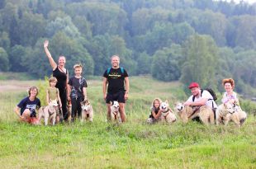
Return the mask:
M 103 74 L 103 77 L 107 78 L 108 86 L 107 92 L 110 94 L 114 94 L 116 92 L 125 91 L 125 77 L 128 77 L 126 69 L 123 69 L 123 73 L 121 72 L 121 68 L 111 68 L 109 73 L 107 70 Z

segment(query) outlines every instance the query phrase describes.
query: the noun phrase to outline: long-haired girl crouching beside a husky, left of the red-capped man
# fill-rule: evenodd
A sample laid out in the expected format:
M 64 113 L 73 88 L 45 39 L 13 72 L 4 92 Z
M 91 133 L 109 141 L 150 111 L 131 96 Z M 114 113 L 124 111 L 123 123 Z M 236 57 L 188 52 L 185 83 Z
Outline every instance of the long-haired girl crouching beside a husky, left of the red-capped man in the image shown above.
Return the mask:
M 161 99 L 155 98 L 152 101 L 152 105 L 150 107 L 151 109 L 151 115 L 149 115 L 149 119 L 147 122 L 149 124 L 154 124 L 161 120 L 162 110 L 160 110 L 160 104 L 162 103 Z

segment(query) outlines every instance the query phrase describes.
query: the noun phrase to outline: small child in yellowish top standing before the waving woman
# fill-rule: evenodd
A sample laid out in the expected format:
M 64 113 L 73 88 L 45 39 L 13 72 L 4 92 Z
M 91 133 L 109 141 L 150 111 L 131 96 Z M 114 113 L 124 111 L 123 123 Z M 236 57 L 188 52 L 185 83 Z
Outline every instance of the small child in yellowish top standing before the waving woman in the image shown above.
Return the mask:
M 56 115 L 56 123 L 59 123 L 59 110 L 62 108 L 62 103 L 59 97 L 59 89 L 56 88 L 57 84 L 57 78 L 56 77 L 50 77 L 49 79 L 49 86 L 46 89 L 46 103 L 49 104 L 50 100 L 57 100 L 59 103 L 59 109 L 57 109 L 57 115 Z

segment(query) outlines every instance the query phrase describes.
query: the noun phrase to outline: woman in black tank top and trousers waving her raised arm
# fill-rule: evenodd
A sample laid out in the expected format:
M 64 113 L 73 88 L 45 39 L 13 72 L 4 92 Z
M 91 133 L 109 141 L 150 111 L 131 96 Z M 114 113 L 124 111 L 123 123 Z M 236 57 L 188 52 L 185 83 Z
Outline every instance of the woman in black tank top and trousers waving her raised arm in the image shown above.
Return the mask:
M 58 82 L 55 87 L 59 89 L 59 97 L 62 103 L 62 112 L 64 120 L 68 119 L 68 113 L 67 113 L 67 85 L 69 81 L 69 71 L 64 68 L 66 59 L 64 56 L 59 56 L 58 64 L 55 63 L 55 60 L 52 58 L 50 51 L 48 49 L 49 41 L 45 40 L 44 42 L 44 48 L 45 48 L 45 54 L 49 59 L 50 66 L 53 68 L 53 76 L 57 78 Z

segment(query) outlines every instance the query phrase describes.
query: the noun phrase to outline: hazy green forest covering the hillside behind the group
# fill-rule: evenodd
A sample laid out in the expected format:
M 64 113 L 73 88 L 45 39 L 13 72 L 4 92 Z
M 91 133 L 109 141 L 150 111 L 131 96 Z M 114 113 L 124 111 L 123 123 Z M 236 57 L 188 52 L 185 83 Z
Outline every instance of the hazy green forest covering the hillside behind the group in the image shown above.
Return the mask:
M 50 76 L 55 60 L 102 76 L 113 54 L 129 75 L 196 81 L 255 96 L 256 4 L 212 0 L 1 0 L 0 72 Z

